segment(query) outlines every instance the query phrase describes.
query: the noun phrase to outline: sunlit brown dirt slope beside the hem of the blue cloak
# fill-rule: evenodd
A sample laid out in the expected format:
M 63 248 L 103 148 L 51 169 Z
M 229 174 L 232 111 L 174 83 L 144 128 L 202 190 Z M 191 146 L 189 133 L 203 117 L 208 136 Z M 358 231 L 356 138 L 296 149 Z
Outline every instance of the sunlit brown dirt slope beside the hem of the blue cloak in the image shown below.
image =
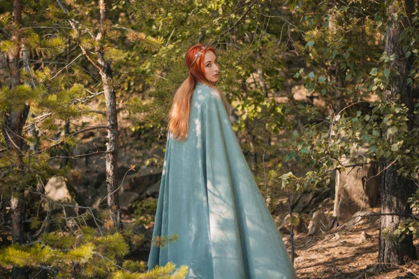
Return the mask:
M 417 261 L 374 271 L 378 260 L 378 228 L 379 220 L 374 218 L 350 229 L 337 228 L 319 236 L 297 234 L 294 265 L 298 278 L 419 278 Z M 418 249 L 419 242 L 415 241 L 415 245 Z

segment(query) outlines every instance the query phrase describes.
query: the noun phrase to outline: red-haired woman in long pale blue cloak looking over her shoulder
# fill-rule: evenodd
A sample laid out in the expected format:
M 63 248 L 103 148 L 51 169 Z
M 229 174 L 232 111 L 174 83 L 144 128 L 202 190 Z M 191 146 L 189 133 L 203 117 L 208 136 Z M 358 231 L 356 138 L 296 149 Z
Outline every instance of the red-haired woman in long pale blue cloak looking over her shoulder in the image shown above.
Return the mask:
M 186 52 L 189 76 L 169 114 L 148 267 L 189 266 L 187 278 L 295 278 L 293 264 L 268 211 L 228 118 L 228 102 L 215 84 L 213 47 Z

